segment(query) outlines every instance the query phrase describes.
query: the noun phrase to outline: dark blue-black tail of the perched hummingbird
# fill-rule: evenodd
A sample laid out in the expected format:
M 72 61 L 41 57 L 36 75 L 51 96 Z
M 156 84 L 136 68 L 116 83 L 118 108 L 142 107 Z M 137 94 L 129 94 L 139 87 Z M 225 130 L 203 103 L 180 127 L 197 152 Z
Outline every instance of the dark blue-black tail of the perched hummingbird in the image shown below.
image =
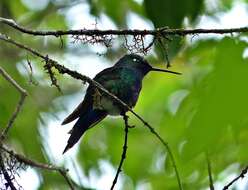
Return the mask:
M 63 154 L 78 142 L 87 129 L 96 125 L 106 116 L 107 113 L 103 110 L 90 110 L 84 115 L 80 116 L 70 132 L 71 136 L 67 141 L 67 145 L 63 151 Z

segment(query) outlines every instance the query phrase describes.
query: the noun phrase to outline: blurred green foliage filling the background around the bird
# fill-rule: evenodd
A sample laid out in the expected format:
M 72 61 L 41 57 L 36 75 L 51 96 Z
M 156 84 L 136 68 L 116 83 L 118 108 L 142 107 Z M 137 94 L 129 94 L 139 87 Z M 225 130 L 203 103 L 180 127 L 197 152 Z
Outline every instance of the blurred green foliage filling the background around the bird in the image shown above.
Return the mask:
M 12 18 L 33 29 L 68 29 L 64 13 L 80 3 L 85 2 L 50 0 L 44 9 L 32 10 L 21 0 L 2 0 L 0 16 Z M 127 15 L 130 12 L 150 20 L 154 27 L 183 27 L 186 18 L 187 24 L 195 27 L 200 15 L 214 17 L 220 11 L 229 11 L 234 5 L 233 0 L 218 1 L 213 9 L 209 8 L 208 1 L 203 0 L 87 0 L 86 3 L 90 14 L 95 17 L 105 14 L 118 28 L 128 26 Z M 65 44 L 61 47 L 60 40 L 55 37 L 32 37 L 3 25 L 0 25 L 0 33 L 8 34 L 44 54 L 60 59 L 71 48 L 69 37 L 63 38 Z M 248 64 L 244 56 L 247 47 L 247 41 L 242 40 L 244 37 L 233 36 L 218 40 L 206 38 L 193 42 L 172 38 L 168 48 L 173 57 L 173 70 L 182 71 L 183 76 L 153 73 L 144 80 L 135 111 L 171 146 L 185 190 L 208 187 L 206 154 L 212 164 L 213 178 L 218 182 L 224 180 L 223 171 L 231 165 L 239 164 L 229 173 L 224 173 L 224 178 L 238 172 L 247 163 Z M 156 47 L 156 53 L 159 57 L 156 62 L 164 62 L 159 47 Z M 41 60 L 3 42 L 0 43 L 0 57 L 0 66 L 29 94 L 8 135 L 8 143 L 30 158 L 57 164 L 56 160 L 50 160 L 52 156 L 45 148 L 39 123 L 42 126 L 49 123 L 42 113 L 56 117 L 57 113 L 64 111 L 66 103 L 58 105 L 54 100 L 61 96 L 68 98 L 78 92 L 80 82 L 58 76 L 64 92 L 60 94 L 50 86 Z M 33 65 L 37 85 L 29 82 L 27 57 Z M 153 57 L 149 59 L 155 60 Z M 7 124 L 18 98 L 16 90 L 0 76 L 1 128 Z M 122 173 L 123 189 L 136 189 L 141 183 L 149 184 L 152 189 L 178 189 L 165 148 L 133 116 L 130 117 L 130 123 L 136 127 L 130 129 L 129 133 L 127 158 Z M 60 126 L 57 130 L 60 130 Z M 108 118 L 98 124 L 98 127 L 87 132 L 80 143 L 75 158 L 78 169 L 90 178 L 92 171 L 104 175 L 100 169 L 102 160 L 116 168 L 121 157 L 123 139 L 122 119 Z M 37 172 L 40 177 L 39 189 L 67 189 L 66 182 L 57 173 Z

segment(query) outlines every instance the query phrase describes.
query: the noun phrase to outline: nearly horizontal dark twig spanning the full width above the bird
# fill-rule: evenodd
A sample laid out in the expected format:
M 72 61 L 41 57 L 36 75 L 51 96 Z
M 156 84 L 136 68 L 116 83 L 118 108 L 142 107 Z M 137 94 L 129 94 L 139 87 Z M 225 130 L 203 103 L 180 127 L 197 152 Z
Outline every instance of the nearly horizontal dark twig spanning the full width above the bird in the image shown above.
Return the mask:
M 195 34 L 232 34 L 232 33 L 244 33 L 248 32 L 248 27 L 238 27 L 238 28 L 228 28 L 228 29 L 170 29 L 170 28 L 157 28 L 154 30 L 137 30 L 137 29 L 125 29 L 125 30 L 87 30 L 87 29 L 79 29 L 79 30 L 54 30 L 54 31 L 38 31 L 38 30 L 30 30 L 26 29 L 20 25 L 18 25 L 14 20 L 12 19 L 6 19 L 0 17 L 0 22 L 3 24 L 6 24 L 8 26 L 11 26 L 15 28 L 16 30 L 34 35 L 34 36 L 63 36 L 63 35 L 86 35 L 86 36 L 103 36 L 103 35 L 152 35 L 157 36 L 158 34 L 161 34 L 163 36 L 166 35 L 179 35 L 179 36 L 185 36 L 185 35 L 195 35 Z

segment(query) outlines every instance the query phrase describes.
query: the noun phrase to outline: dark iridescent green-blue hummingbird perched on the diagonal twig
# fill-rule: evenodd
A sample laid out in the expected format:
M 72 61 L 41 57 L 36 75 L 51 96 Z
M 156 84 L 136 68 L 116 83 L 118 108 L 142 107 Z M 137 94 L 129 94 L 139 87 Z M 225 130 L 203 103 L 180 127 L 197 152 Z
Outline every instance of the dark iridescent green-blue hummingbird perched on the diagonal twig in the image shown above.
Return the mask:
M 137 54 L 127 54 L 117 61 L 114 66 L 99 72 L 93 80 L 116 95 L 130 108 L 133 108 L 142 88 L 142 80 L 150 71 L 181 74 L 153 68 L 143 57 Z M 107 115 L 124 115 L 127 111 L 116 100 L 106 94 L 101 94 L 96 87 L 89 85 L 83 101 L 62 122 L 62 125 L 65 125 L 78 118 L 69 132 L 70 137 L 63 154 L 79 141 L 85 131 L 94 127 Z

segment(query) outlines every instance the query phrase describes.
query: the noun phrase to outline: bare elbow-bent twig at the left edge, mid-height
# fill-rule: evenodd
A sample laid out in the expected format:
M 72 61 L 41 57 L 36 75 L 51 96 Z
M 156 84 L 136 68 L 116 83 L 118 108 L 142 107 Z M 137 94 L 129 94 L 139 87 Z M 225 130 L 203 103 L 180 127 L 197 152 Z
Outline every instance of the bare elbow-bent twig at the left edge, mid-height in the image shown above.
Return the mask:
M 24 100 L 27 96 L 27 92 L 26 90 L 24 90 L 2 67 L 0 67 L 0 74 L 2 74 L 2 76 L 10 83 L 12 84 L 17 90 L 18 92 L 21 94 L 20 100 L 18 101 L 18 104 L 16 106 L 16 110 L 13 112 L 12 116 L 9 119 L 9 122 L 6 126 L 6 128 L 3 130 L 0 139 L 4 140 L 9 129 L 12 127 L 17 115 L 19 114 L 23 104 L 24 104 Z

